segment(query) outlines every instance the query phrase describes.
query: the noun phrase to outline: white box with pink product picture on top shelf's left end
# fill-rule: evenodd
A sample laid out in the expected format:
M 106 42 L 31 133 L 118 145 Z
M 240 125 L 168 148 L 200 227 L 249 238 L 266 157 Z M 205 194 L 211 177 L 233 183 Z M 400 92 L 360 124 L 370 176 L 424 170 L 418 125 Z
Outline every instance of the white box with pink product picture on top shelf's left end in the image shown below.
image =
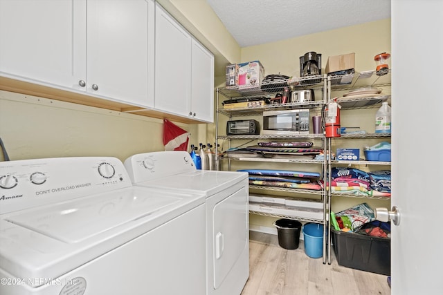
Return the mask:
M 260 61 L 248 61 L 238 65 L 238 89 L 260 89 L 264 68 Z

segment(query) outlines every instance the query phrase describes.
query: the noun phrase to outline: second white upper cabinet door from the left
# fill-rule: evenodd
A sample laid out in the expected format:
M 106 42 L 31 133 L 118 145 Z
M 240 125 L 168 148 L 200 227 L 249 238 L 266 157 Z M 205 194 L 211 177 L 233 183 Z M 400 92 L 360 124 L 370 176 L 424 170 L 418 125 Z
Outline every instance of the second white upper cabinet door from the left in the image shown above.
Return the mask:
M 153 0 L 88 0 L 87 92 L 152 106 Z M 94 86 L 95 85 L 95 86 Z M 148 89 L 150 88 L 150 89 Z

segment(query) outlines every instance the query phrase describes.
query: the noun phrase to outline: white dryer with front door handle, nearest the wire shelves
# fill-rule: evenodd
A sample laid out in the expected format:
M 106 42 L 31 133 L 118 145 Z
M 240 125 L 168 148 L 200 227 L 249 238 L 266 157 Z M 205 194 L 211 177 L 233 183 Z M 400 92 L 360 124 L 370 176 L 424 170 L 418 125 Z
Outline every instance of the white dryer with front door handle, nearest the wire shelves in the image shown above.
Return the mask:
M 206 196 L 207 294 L 238 295 L 249 277 L 248 174 L 197 170 L 186 151 L 133 155 L 133 183 Z

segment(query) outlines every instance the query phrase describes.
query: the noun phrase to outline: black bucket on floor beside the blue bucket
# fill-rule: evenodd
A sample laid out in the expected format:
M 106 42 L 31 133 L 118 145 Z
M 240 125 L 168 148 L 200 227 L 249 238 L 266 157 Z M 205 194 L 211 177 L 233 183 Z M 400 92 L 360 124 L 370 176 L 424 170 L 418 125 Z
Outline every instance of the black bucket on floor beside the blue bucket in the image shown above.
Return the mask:
M 284 249 L 297 249 L 300 241 L 301 222 L 292 219 L 279 219 L 274 222 L 278 232 L 278 245 Z

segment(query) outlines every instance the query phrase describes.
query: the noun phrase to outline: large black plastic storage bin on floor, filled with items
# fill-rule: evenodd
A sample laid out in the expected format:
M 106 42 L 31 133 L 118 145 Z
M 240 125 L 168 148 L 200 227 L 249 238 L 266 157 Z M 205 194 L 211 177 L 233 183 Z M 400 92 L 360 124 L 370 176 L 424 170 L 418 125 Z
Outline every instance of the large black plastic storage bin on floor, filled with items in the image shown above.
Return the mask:
M 390 276 L 390 238 L 331 229 L 338 265 Z

